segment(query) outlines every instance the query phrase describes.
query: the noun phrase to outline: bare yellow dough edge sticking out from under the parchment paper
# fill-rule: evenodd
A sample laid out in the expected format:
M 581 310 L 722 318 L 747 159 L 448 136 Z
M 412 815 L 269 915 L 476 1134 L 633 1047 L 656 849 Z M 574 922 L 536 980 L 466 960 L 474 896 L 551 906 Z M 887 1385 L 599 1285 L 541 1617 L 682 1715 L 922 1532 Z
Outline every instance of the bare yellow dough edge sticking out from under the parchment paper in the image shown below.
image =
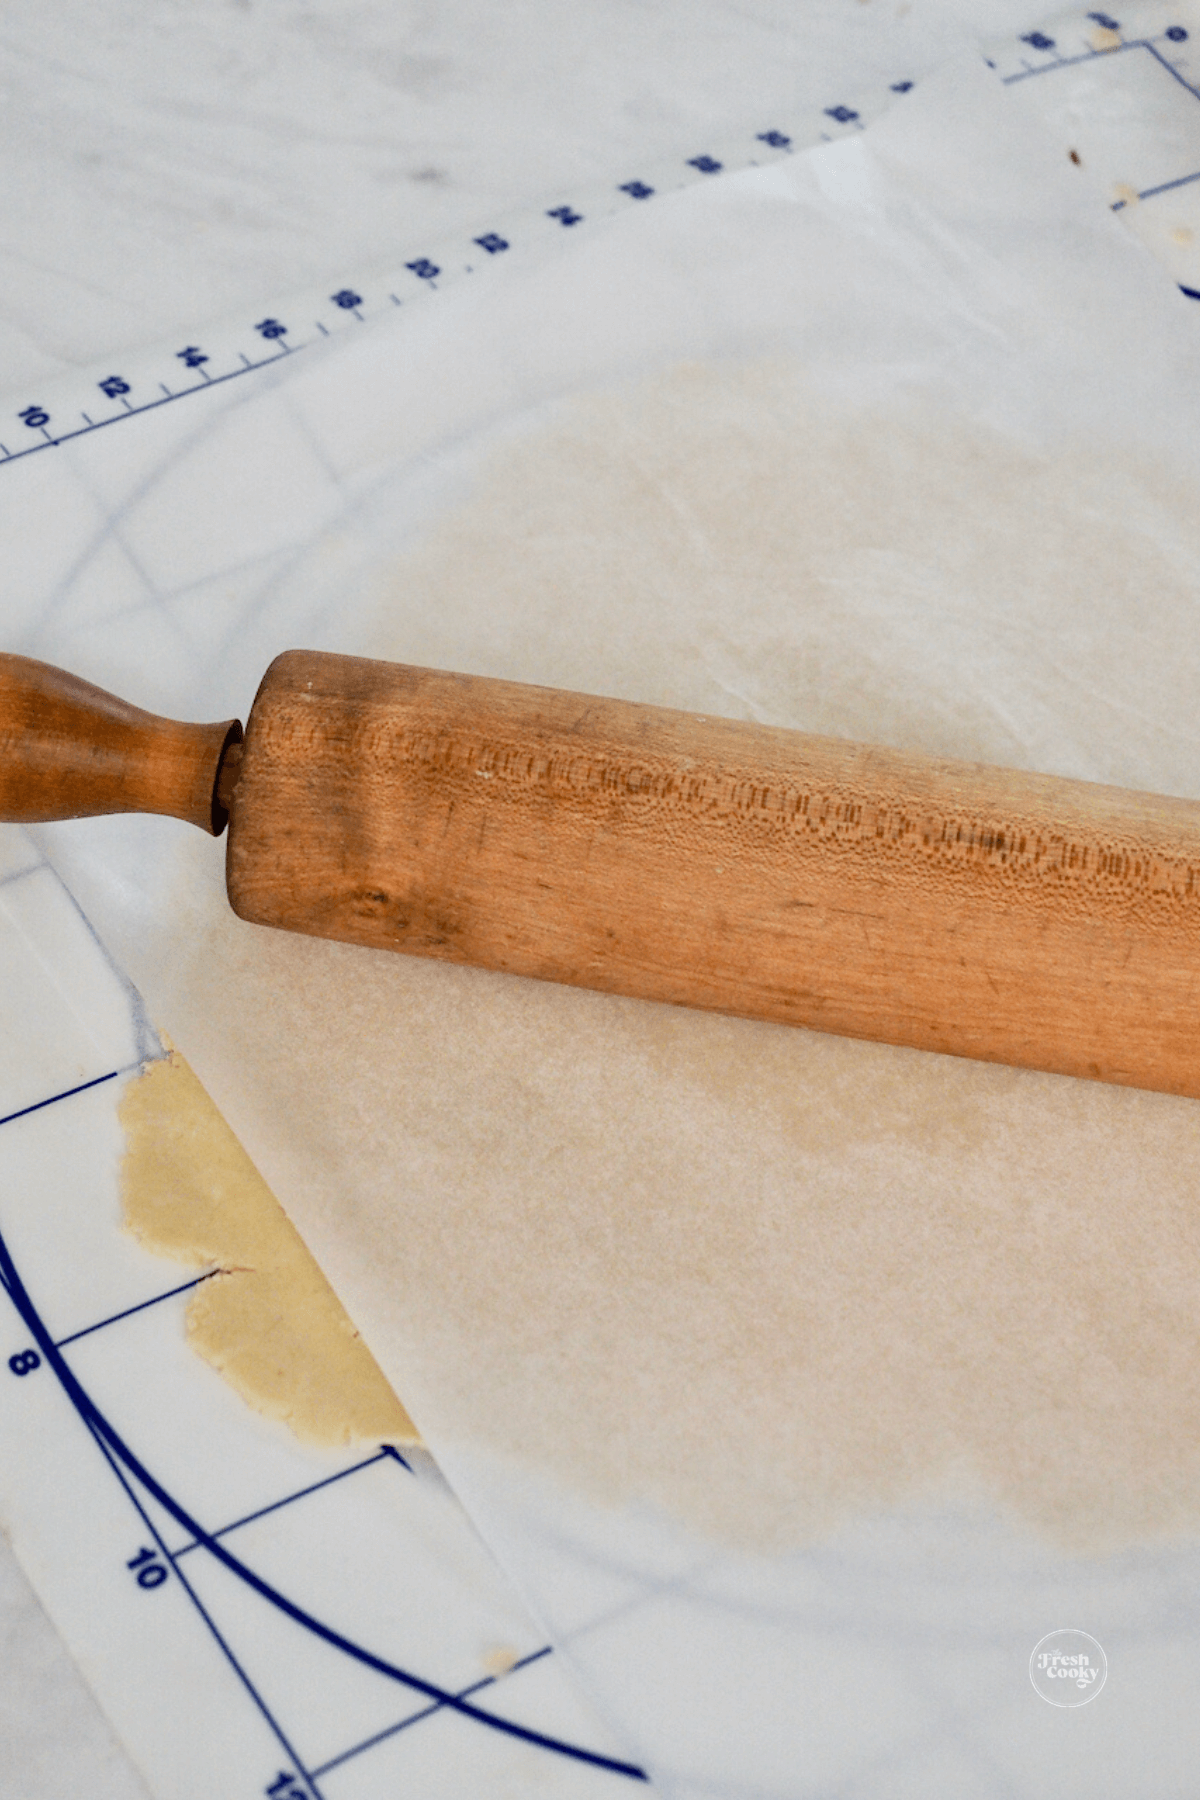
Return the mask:
M 144 1249 L 216 1265 L 187 1341 L 304 1444 L 419 1444 L 419 1433 L 299 1231 L 171 1049 L 121 1100 L 124 1228 Z

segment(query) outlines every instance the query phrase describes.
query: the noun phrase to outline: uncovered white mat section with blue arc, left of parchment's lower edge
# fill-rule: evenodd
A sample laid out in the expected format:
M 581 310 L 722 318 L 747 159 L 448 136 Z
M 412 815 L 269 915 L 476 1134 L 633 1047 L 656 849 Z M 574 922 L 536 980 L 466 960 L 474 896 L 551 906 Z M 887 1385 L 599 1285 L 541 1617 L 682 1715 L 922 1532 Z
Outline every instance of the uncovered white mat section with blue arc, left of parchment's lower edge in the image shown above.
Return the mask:
M 0 1517 L 157 1795 L 599 1795 L 628 1759 L 419 1451 L 315 1451 L 121 1231 L 162 1048 L 23 833 L 0 866 Z

